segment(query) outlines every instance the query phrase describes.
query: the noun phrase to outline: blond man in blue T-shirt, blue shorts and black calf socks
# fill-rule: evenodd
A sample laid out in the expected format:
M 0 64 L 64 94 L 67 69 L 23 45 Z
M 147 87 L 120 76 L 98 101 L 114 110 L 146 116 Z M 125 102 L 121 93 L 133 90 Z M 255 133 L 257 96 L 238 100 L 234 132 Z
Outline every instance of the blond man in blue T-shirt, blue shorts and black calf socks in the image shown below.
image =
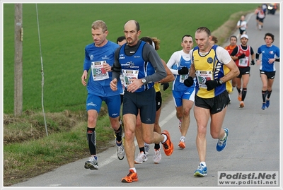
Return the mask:
M 103 20 L 96 20 L 91 25 L 93 42 L 85 47 L 85 59 L 83 62 L 83 75 L 81 83 L 86 86 L 88 96 L 86 99 L 86 110 L 88 112 L 87 140 L 91 157 L 85 162 L 86 169 L 98 170 L 98 158 L 96 156 L 96 122 L 100 107 L 104 101 L 108 106 L 108 114 L 112 129 L 115 131 L 117 158 L 122 160 L 125 155 L 122 145 L 122 126 L 119 122 L 120 115 L 120 93 L 122 85 L 117 83 L 117 91 L 110 88 L 112 78 L 111 66 L 114 63 L 114 54 L 118 44 L 106 39 L 108 28 Z M 90 76 L 88 78 L 88 71 Z M 88 78 L 88 83 L 86 79 Z

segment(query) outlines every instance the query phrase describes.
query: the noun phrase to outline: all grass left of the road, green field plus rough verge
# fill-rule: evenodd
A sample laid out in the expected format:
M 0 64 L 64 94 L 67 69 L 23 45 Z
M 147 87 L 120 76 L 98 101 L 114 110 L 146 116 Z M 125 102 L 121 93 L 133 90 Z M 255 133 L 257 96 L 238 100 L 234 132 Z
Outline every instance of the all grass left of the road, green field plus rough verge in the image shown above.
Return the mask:
M 225 11 L 220 11 L 221 10 Z M 14 5 L 4 4 L 4 186 L 86 158 L 86 88 L 81 85 L 84 47 L 92 43 L 91 23 L 104 20 L 108 40 L 123 35 L 129 19 L 139 21 L 141 37 L 158 37 L 165 61 L 180 50 L 185 34 L 207 26 L 219 44 L 235 30 L 242 13 L 258 4 L 37 4 L 45 73 L 45 136 L 41 111 L 41 62 L 35 4 L 23 4 L 23 116 L 13 117 Z M 229 21 L 227 21 L 229 20 Z M 224 23 L 228 25 L 223 26 Z M 163 99 L 171 89 L 161 90 Z M 166 101 L 164 101 L 166 102 Z M 174 108 L 173 108 L 174 109 Z M 97 147 L 113 146 L 103 109 Z

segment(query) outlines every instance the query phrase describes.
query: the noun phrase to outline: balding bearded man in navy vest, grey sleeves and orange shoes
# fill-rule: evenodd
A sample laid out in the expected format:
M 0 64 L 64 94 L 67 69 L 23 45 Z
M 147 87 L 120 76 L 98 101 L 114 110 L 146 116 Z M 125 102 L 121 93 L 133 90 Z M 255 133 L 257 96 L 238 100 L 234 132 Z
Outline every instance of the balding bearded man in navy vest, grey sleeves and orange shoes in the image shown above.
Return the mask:
M 125 78 L 125 94 L 122 114 L 125 127 L 125 152 L 129 164 L 129 174 L 122 182 L 137 182 L 137 170 L 134 167 L 134 135 L 137 114 L 140 113 L 142 138 L 145 143 L 162 143 L 166 155 L 173 153 L 174 147 L 169 132 L 154 131 L 156 118 L 156 92 L 154 83 L 167 76 L 166 70 L 154 47 L 139 40 L 141 30 L 136 20 L 129 20 L 124 25 L 127 44 L 115 52 L 115 63 L 112 67 L 112 90 L 119 90 L 117 82 L 120 73 Z

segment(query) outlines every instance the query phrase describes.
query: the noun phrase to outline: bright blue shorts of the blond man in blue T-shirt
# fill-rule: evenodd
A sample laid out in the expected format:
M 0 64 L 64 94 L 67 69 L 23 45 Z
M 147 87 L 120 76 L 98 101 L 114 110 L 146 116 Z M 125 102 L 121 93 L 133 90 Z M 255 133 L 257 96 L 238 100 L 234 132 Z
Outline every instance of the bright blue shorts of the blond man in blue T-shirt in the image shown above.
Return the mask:
M 108 107 L 109 117 L 116 118 L 120 115 L 120 95 L 112 95 L 109 97 L 101 97 L 98 95 L 88 94 L 86 98 L 86 110 L 95 109 L 98 113 L 100 111 L 102 102 L 105 102 Z

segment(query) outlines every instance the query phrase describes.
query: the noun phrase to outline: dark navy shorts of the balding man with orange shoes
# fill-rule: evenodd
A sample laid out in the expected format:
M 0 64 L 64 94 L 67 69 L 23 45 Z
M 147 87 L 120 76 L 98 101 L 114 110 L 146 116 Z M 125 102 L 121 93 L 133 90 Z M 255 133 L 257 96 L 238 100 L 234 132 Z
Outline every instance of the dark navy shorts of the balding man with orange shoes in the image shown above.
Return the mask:
M 141 122 L 154 124 L 156 117 L 156 92 L 154 88 L 140 93 L 129 93 L 125 90 L 122 113 L 141 115 Z

